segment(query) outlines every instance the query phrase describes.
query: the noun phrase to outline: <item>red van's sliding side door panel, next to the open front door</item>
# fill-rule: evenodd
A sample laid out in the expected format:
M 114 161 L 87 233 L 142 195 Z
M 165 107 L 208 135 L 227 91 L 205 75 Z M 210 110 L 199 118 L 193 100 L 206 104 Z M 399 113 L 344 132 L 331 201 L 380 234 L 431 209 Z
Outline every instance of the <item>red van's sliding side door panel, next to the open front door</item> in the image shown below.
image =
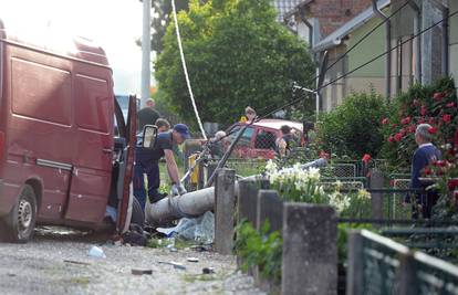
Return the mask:
M 98 223 L 110 193 L 114 95 L 111 72 L 75 67 L 74 117 L 76 148 L 65 219 Z

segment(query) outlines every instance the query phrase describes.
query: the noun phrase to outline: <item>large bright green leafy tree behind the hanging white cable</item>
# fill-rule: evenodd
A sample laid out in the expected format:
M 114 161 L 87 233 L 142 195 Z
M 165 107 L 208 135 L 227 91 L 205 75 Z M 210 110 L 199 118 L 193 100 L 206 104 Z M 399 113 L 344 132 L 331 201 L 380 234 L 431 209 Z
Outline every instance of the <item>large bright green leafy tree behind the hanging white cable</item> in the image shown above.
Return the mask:
M 192 92 L 202 120 L 230 124 L 247 105 L 262 113 L 284 104 L 291 83 L 313 75 L 306 44 L 275 22 L 269 0 L 191 0 L 178 14 Z M 174 23 L 156 63 L 159 88 L 174 110 L 195 122 Z M 306 85 L 309 86 L 309 85 Z

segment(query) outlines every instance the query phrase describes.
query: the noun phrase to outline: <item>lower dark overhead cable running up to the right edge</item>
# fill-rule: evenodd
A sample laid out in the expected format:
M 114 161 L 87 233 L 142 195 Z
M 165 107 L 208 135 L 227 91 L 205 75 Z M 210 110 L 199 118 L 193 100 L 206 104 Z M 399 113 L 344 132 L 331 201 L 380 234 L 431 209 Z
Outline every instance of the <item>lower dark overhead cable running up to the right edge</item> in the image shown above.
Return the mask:
M 325 87 L 327 87 L 327 86 L 329 86 L 329 85 L 331 85 L 331 84 L 334 84 L 335 82 L 337 82 L 337 81 L 340 81 L 340 80 L 342 80 L 342 78 L 344 78 L 344 77 L 348 76 L 350 74 L 353 74 L 354 72 L 358 71 L 360 69 L 362 69 L 362 67 L 364 67 L 364 66 L 366 66 L 366 65 L 368 65 L 368 64 L 373 63 L 374 61 L 376 61 L 376 60 L 378 60 L 378 59 L 381 59 L 381 57 L 383 57 L 383 56 L 385 56 L 386 54 L 389 54 L 392 51 L 394 51 L 394 50 L 398 49 L 399 46 L 404 45 L 405 43 L 407 43 L 407 42 L 409 42 L 409 41 L 414 40 L 415 38 L 417 38 L 417 36 L 421 35 L 421 34 L 424 34 L 424 33 L 425 33 L 425 32 L 427 32 L 427 31 L 431 30 L 434 27 L 436 27 L 436 25 L 438 25 L 438 24 L 443 23 L 444 21 L 448 20 L 449 18 L 454 17 L 454 15 L 455 15 L 455 14 L 457 14 L 457 13 L 458 13 L 458 10 L 457 10 L 457 11 L 455 11 L 454 13 L 450 13 L 449 15 L 445 17 L 445 18 L 444 18 L 444 19 L 441 19 L 440 21 L 438 21 L 438 22 L 436 22 L 436 23 L 433 23 L 430 27 L 428 27 L 428 28 L 424 29 L 423 31 L 418 32 L 417 34 L 414 34 L 414 35 L 412 35 L 410 38 L 408 38 L 408 39 L 404 40 L 403 42 L 398 43 L 396 46 L 392 48 L 391 50 L 385 51 L 384 53 L 381 53 L 381 54 L 376 55 L 375 57 L 371 59 L 368 62 L 365 62 L 364 64 L 362 64 L 362 65 L 360 65 L 360 66 L 357 66 L 357 67 L 353 69 L 352 71 L 350 71 L 350 72 L 347 72 L 347 73 L 345 73 L 345 74 L 343 74 L 343 75 L 341 75 L 341 76 L 339 76 L 339 77 L 334 78 L 333 81 L 331 81 L 331 82 L 329 82 L 329 83 L 326 83 L 326 84 L 322 85 L 321 87 L 315 88 L 315 89 L 314 89 L 314 92 L 319 92 L 319 91 L 321 91 L 322 88 L 325 88 Z M 296 99 L 294 99 L 294 101 L 292 101 L 292 102 L 290 102 L 290 103 L 288 103 L 288 104 L 285 104 L 285 105 L 283 105 L 283 106 L 281 106 L 281 107 L 279 107 L 279 108 L 275 108 L 274 110 L 272 110 L 272 112 L 270 112 L 270 113 L 268 113 L 268 114 L 266 114 L 266 115 L 263 115 L 263 116 L 259 117 L 257 120 L 259 120 L 259 119 L 263 119 L 263 118 L 266 118 L 266 117 L 268 117 L 268 116 L 270 116 L 270 115 L 272 115 L 272 114 L 274 114 L 274 113 L 277 113 L 277 112 L 279 112 L 279 110 L 281 110 L 281 109 L 283 109 L 283 108 L 287 108 L 287 107 L 290 107 L 290 106 L 292 106 L 292 105 L 295 105 L 296 103 L 299 103 L 299 102 L 301 102 L 302 99 L 305 99 L 305 98 L 306 98 L 306 96 L 305 96 L 305 95 L 303 95 L 302 97 L 299 97 L 299 98 L 296 98 Z

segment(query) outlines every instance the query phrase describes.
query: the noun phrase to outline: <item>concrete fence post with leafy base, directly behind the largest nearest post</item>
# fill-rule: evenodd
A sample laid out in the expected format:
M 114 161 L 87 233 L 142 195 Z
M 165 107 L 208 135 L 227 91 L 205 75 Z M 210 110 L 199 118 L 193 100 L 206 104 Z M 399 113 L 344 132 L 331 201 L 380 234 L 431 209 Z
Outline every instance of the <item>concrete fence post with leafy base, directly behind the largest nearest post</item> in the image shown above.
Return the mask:
M 275 190 L 260 190 L 258 193 L 257 208 L 258 231 L 261 230 L 266 220 L 269 220 L 269 232 L 281 231 L 283 229 L 283 202 Z

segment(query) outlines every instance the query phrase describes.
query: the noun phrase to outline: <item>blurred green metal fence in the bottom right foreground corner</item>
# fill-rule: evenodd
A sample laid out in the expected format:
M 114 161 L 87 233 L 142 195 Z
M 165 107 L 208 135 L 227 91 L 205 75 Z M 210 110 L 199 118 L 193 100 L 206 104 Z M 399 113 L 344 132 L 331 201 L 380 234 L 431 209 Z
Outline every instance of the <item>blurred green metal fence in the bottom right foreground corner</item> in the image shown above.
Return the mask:
M 347 294 L 458 294 L 458 267 L 369 231 L 350 235 Z

